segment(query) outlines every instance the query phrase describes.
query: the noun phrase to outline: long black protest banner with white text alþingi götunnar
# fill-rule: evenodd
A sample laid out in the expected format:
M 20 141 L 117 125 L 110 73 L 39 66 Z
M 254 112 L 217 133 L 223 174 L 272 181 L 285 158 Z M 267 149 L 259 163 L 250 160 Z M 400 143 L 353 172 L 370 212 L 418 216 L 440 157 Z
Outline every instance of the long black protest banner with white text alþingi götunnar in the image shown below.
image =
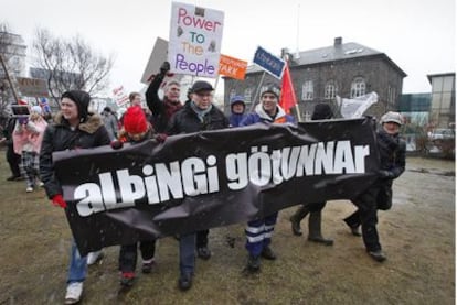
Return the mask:
M 375 179 L 369 118 L 255 124 L 53 154 L 82 254 L 351 199 Z

